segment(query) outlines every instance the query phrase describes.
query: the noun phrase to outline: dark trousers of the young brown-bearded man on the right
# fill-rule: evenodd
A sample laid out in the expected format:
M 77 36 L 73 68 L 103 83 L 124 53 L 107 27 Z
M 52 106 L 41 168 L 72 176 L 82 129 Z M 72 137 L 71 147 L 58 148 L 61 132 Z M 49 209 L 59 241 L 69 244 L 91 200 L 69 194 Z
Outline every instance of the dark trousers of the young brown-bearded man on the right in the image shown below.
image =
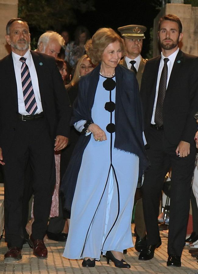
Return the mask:
M 195 145 L 190 146 L 190 154 L 179 158 L 175 150 L 165 138 L 163 130 L 150 129 L 147 149 L 151 168 L 147 171 L 142 187 L 143 210 L 147 229 L 147 244 L 157 244 L 160 239 L 157 216 L 159 213 L 159 197 L 163 188 L 164 176 L 172 168 L 170 223 L 168 234 L 168 254 L 181 256 L 185 244 L 186 228 L 189 217 L 190 186 L 194 170 Z

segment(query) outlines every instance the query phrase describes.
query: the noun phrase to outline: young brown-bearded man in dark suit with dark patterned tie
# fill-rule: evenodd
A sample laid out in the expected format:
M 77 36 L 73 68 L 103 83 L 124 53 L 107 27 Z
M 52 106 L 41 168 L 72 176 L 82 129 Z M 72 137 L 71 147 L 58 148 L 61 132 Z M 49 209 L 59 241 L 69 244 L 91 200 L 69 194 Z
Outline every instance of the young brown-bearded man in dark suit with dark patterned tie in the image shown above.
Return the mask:
M 172 168 L 168 234 L 168 266 L 181 266 L 189 216 L 190 185 L 196 147 L 198 105 L 198 58 L 179 47 L 182 23 L 175 15 L 159 22 L 162 53 L 145 65 L 140 94 L 145 111 L 145 136 L 151 168 L 143 183 L 143 209 L 147 248 L 139 260 L 150 260 L 161 245 L 157 216 L 164 176 Z

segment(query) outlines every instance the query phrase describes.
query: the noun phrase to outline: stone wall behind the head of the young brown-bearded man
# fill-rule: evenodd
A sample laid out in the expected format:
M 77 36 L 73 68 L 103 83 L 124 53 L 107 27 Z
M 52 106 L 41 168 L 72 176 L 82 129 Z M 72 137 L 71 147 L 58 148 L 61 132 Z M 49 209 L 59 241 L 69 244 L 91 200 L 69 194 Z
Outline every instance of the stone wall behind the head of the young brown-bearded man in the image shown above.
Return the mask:
M 165 14 L 175 14 L 182 21 L 183 38 L 179 43 L 180 49 L 198 56 L 198 7 L 185 4 L 166 4 L 154 19 L 153 57 L 161 52 L 157 40 L 158 22 L 160 17 Z

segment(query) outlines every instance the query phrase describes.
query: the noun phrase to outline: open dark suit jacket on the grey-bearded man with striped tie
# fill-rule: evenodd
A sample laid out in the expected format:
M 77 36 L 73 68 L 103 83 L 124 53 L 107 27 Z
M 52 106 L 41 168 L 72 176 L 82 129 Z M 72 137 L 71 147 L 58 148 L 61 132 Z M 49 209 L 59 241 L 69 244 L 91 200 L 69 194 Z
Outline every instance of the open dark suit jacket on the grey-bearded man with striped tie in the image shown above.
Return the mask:
M 37 72 L 44 118 L 52 141 L 57 135 L 69 137 L 71 107 L 55 59 L 31 51 Z M 0 147 L 3 155 L 14 138 L 18 119 L 17 84 L 12 53 L 0 61 Z

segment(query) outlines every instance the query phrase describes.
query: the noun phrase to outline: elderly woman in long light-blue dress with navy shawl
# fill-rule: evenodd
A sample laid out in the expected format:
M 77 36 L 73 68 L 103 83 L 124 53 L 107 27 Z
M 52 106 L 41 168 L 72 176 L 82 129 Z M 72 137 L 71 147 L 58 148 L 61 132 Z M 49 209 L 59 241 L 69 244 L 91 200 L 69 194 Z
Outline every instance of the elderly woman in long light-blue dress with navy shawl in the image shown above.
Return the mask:
M 102 251 L 108 264 L 130 268 L 123 249 L 133 247 L 134 194 L 148 167 L 138 83 L 118 65 L 124 45 L 114 30 L 97 30 L 85 48 L 99 65 L 81 78 L 73 105 L 81 136 L 62 183 L 76 184 L 63 256 L 94 267 Z

